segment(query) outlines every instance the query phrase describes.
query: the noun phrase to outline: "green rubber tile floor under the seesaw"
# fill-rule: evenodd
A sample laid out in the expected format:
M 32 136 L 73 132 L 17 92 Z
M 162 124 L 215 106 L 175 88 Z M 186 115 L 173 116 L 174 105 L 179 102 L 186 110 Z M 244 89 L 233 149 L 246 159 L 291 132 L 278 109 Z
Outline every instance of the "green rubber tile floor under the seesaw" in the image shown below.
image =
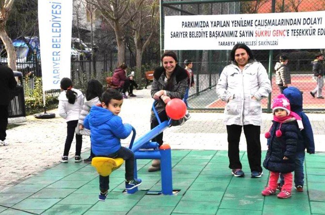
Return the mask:
M 85 156 L 84 156 L 85 157 Z M 265 152 L 262 152 L 262 160 Z M 139 191 L 125 194 L 124 165 L 110 175 L 106 201 L 98 201 L 98 174 L 91 164 L 58 164 L 19 180 L 0 192 L 0 215 L 325 215 L 325 153 L 306 154 L 304 191 L 292 197 L 263 197 L 269 172 L 251 178 L 246 152 L 240 152 L 245 177 L 228 169 L 227 151 L 173 150 L 173 196 L 161 191 L 161 175 L 148 172 L 151 160 L 137 160 Z

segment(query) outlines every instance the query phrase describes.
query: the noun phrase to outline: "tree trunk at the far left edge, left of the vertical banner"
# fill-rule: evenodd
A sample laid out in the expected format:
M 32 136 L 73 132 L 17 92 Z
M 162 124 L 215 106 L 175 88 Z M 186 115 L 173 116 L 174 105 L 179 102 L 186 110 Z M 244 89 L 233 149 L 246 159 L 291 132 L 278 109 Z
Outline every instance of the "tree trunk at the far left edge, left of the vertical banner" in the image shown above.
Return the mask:
M 4 47 L 7 50 L 7 62 L 8 67 L 10 67 L 13 71 L 16 71 L 16 51 L 15 47 L 13 45 L 13 42 L 8 37 L 6 31 L 4 30 L 5 23 L 0 23 L 0 38 L 4 44 Z

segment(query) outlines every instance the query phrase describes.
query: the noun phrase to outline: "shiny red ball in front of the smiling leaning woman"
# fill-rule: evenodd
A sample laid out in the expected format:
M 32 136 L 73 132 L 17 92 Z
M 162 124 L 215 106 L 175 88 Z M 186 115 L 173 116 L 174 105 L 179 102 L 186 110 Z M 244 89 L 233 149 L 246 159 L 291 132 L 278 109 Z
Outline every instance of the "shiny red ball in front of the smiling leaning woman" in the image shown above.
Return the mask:
M 174 98 L 166 105 L 167 116 L 173 120 L 179 120 L 186 114 L 186 105 L 183 100 Z

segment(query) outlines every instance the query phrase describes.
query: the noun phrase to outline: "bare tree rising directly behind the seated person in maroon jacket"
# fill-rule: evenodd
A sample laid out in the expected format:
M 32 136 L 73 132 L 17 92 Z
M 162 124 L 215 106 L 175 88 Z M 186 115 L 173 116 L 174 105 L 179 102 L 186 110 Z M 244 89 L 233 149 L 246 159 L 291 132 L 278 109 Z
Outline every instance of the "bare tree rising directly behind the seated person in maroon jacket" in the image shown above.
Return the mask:
M 144 0 L 134 0 L 136 3 L 134 12 L 130 13 L 128 18 L 125 15 L 130 10 L 130 0 L 86 0 L 88 3 L 93 4 L 101 13 L 102 17 L 111 25 L 114 29 L 116 44 L 118 48 L 117 52 L 117 64 L 121 64 L 125 61 L 125 31 L 124 29 L 130 23 L 130 21 L 137 15 L 139 9 L 142 6 Z

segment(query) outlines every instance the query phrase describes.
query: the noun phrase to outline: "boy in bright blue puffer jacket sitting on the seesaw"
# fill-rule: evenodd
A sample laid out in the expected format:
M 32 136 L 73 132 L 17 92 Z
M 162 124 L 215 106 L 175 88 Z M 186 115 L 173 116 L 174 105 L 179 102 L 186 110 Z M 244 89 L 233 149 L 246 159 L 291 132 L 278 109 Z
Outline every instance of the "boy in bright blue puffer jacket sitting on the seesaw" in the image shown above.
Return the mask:
M 123 124 L 118 114 L 123 104 L 123 96 L 115 89 L 108 89 L 101 96 L 101 106 L 94 106 L 84 119 L 83 126 L 90 129 L 91 149 L 97 157 L 120 157 L 125 160 L 125 186 L 133 189 L 141 185 L 141 179 L 134 178 L 134 153 L 121 146 L 120 139 L 127 138 L 132 127 Z M 99 200 L 106 199 L 109 176 L 99 175 Z

